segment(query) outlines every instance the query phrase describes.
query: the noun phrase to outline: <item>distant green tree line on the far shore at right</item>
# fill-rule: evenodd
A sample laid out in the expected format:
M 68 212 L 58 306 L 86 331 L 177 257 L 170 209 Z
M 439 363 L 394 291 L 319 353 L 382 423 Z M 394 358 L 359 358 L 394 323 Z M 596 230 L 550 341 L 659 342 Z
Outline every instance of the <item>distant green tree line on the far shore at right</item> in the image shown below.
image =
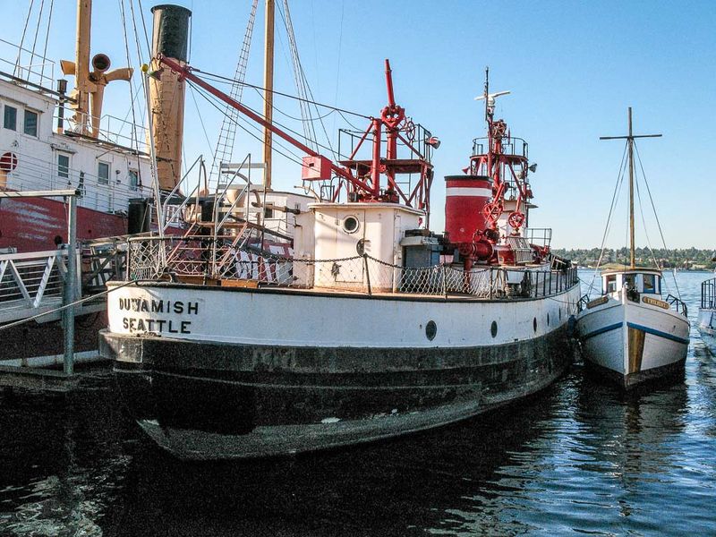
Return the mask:
M 567 258 L 579 266 L 595 267 L 599 260 L 601 250 L 553 248 L 552 252 L 559 257 Z M 655 248 L 653 251 L 648 248 L 635 249 L 635 262 L 638 267 L 653 267 L 654 258 L 661 268 L 686 268 L 691 270 L 712 270 L 716 268 L 716 252 L 713 250 L 699 250 L 697 248 L 677 248 L 665 250 Z M 601 258 L 601 265 L 607 264 L 628 264 L 629 249 L 605 249 Z

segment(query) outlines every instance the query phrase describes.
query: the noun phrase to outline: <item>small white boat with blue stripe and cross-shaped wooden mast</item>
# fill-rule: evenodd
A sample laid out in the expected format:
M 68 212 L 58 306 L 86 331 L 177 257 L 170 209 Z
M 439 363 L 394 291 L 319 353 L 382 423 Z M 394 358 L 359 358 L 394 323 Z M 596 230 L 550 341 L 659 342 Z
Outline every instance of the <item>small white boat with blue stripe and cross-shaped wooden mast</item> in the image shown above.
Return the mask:
M 653 136 L 661 134 L 632 134 L 629 108 L 629 134 L 602 138 L 626 139 L 631 259 L 628 268 L 601 273 L 601 296 L 585 296 L 576 319 L 586 364 L 626 389 L 682 370 L 688 350 L 686 304 L 671 294 L 663 300 L 661 271 L 635 263 L 634 139 Z

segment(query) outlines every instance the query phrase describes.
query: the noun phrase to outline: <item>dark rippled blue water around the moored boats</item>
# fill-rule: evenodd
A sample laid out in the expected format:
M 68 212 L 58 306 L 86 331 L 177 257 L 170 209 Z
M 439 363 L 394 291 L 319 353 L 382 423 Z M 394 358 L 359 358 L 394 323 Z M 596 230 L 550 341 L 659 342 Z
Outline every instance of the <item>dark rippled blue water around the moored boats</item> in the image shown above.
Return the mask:
M 706 277 L 678 276 L 692 317 Z M 620 396 L 575 366 L 473 422 L 260 464 L 164 456 L 107 381 L 5 392 L 0 534 L 716 535 L 716 358 L 692 337 L 670 386 Z

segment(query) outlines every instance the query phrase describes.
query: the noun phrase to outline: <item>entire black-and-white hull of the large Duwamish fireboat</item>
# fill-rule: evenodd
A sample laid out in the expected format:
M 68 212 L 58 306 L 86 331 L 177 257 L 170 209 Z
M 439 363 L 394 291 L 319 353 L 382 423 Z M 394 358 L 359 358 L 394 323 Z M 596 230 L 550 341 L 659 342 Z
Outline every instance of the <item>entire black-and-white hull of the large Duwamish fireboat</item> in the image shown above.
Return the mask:
M 183 303 L 185 310 L 202 294 L 198 289 L 125 289 L 138 311 L 127 311 L 128 303 L 123 310 L 121 296 L 110 294 L 100 352 L 115 360 L 124 402 L 142 429 L 182 459 L 286 456 L 350 446 L 458 422 L 529 396 L 558 379 L 571 362 L 567 310 L 578 300 L 576 286 L 551 297 L 557 300 L 468 303 L 336 295 L 317 303 L 315 294 L 204 288 L 214 307 L 198 308 L 192 334 L 181 334 L 181 327 L 189 329 L 182 320 L 166 318 L 180 332 L 173 335 L 172 330 L 121 332 L 132 324 L 127 319 L 158 317 L 141 311 L 142 296 Z M 275 324 L 260 315 L 262 307 L 277 308 Z M 369 326 L 359 336 L 341 332 L 340 312 L 362 307 L 372 311 L 368 324 L 375 322 L 376 329 Z M 202 311 L 209 317 L 202 320 Z M 233 313 L 232 328 L 223 330 L 226 320 L 212 319 L 212 311 L 225 318 Z M 283 327 L 293 324 L 294 315 L 303 318 L 301 326 Z M 424 334 L 426 317 L 437 320 L 431 341 Z M 513 321 L 512 331 L 500 327 L 506 333 L 492 336 L 490 320 L 506 318 Z M 260 323 L 254 325 L 254 319 Z M 465 323 L 473 330 L 461 332 Z M 394 327 L 392 334 L 378 329 L 386 324 Z M 485 334 L 476 329 L 481 325 Z M 413 328 L 419 328 L 416 337 Z M 525 337 L 516 337 L 520 334 Z M 337 341 L 345 345 L 336 346 Z

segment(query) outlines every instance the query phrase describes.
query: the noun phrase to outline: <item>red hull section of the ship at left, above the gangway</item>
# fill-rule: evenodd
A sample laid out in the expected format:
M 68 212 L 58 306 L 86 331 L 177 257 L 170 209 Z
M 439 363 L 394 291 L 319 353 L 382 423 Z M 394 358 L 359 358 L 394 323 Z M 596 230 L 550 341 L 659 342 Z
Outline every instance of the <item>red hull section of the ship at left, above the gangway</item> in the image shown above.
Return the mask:
M 55 236 L 67 241 L 69 206 L 43 198 L 0 200 L 0 248 L 19 252 L 56 248 Z M 77 208 L 77 238 L 97 239 L 127 233 L 127 218 L 93 209 Z

